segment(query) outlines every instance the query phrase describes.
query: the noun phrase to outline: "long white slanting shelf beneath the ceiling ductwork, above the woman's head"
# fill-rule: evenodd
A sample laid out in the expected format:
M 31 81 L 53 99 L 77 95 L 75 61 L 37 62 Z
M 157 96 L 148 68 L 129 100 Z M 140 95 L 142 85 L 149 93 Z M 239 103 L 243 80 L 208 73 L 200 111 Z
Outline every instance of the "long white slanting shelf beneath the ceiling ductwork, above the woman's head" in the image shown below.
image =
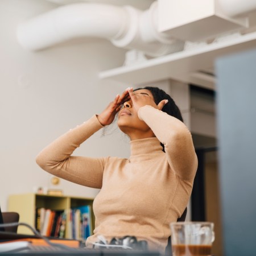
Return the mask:
M 218 42 L 186 49 L 130 66 L 100 72 L 100 79 L 121 81 L 129 85 L 174 79 L 214 89 L 214 77 L 200 73 L 214 67 L 217 57 L 256 48 L 256 32 L 223 38 Z

